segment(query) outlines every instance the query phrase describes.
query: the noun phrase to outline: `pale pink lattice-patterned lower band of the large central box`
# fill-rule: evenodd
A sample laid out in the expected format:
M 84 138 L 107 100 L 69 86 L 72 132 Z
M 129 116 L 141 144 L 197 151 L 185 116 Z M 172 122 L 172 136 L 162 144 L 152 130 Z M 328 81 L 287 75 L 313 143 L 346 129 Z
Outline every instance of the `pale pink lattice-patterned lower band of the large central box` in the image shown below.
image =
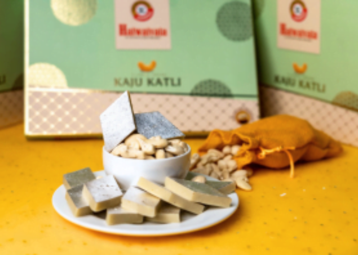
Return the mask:
M 121 93 L 83 89 L 28 88 L 29 135 L 101 134 L 99 115 Z M 131 93 L 135 113 L 159 111 L 183 132 L 202 133 L 240 126 L 237 112 L 249 109 L 258 119 L 257 101 L 205 96 Z

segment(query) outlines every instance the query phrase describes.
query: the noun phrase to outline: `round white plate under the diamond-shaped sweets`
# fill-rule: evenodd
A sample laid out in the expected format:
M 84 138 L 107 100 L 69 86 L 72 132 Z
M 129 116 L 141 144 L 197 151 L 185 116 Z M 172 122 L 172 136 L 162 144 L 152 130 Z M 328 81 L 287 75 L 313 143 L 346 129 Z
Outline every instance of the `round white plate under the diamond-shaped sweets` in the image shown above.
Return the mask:
M 95 172 L 96 176 L 106 175 L 104 171 Z M 207 179 L 212 179 L 207 177 Z M 212 179 L 214 180 L 214 179 Z M 232 203 L 229 208 L 209 207 L 202 214 L 194 215 L 182 211 L 182 222 L 160 224 L 144 222 L 143 224 L 118 224 L 108 226 L 103 219 L 103 214 L 73 216 L 65 199 L 65 188 L 61 185 L 52 197 L 52 204 L 59 215 L 72 223 L 89 228 L 91 230 L 126 236 L 169 236 L 184 234 L 216 225 L 229 218 L 239 206 L 239 198 L 235 192 L 229 195 Z M 102 216 L 102 217 L 101 217 Z

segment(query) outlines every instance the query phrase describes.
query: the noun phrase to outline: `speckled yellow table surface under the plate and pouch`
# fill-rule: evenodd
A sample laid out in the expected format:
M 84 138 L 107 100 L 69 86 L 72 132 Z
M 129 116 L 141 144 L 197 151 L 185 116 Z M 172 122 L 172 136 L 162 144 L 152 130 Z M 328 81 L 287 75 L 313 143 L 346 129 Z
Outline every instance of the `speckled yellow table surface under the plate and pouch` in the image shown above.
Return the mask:
M 188 139 L 196 151 L 203 142 Z M 62 175 L 102 170 L 102 140 L 27 141 L 23 125 L 0 130 L 0 254 L 358 254 L 358 149 L 288 169 L 257 170 L 237 190 L 228 220 L 190 234 L 126 237 L 61 218 L 51 198 Z M 283 195 L 285 194 L 285 195 Z

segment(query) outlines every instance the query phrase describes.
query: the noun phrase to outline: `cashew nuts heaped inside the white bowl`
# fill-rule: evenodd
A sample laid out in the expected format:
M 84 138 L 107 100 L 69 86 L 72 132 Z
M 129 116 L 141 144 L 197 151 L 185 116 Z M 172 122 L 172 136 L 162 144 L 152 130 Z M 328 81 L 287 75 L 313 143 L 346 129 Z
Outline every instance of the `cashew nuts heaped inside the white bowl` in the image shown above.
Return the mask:
M 147 139 L 141 134 L 132 134 L 110 153 L 127 159 L 168 159 L 188 151 L 188 145 L 180 139 L 167 140 L 160 136 Z

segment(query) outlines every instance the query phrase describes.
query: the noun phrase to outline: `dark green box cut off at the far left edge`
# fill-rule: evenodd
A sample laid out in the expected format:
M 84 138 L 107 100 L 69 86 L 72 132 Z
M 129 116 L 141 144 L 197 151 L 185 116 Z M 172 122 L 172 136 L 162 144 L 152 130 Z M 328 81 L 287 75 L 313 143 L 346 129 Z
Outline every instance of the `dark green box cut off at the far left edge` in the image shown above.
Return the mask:
M 0 128 L 23 121 L 24 3 L 0 0 Z

